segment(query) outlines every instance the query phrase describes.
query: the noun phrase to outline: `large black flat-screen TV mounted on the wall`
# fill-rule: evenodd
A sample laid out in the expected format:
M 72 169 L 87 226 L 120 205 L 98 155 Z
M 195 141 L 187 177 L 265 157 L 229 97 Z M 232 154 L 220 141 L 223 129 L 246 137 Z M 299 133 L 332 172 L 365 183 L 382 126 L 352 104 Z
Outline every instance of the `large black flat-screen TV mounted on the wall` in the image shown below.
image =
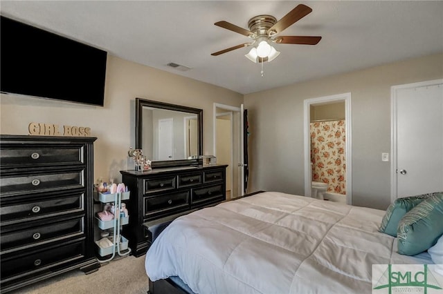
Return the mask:
M 1 16 L 0 88 L 103 106 L 107 52 Z

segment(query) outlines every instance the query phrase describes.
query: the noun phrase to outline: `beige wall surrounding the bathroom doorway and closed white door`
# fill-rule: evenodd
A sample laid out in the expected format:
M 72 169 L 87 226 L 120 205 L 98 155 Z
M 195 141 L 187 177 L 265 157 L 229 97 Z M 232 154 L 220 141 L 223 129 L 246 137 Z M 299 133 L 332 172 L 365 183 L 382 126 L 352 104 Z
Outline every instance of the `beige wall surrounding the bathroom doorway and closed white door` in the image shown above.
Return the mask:
M 352 93 L 352 204 L 390 204 L 390 87 L 443 77 L 430 55 L 245 95 L 251 188 L 304 195 L 303 101 Z

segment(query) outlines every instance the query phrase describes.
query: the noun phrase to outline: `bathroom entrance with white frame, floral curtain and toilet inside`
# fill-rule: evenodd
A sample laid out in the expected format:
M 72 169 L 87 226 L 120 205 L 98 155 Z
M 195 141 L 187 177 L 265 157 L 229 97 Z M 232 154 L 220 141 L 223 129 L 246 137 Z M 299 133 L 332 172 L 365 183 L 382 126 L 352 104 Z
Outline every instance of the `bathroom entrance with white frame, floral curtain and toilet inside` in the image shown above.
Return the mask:
M 305 195 L 352 203 L 350 93 L 305 100 Z

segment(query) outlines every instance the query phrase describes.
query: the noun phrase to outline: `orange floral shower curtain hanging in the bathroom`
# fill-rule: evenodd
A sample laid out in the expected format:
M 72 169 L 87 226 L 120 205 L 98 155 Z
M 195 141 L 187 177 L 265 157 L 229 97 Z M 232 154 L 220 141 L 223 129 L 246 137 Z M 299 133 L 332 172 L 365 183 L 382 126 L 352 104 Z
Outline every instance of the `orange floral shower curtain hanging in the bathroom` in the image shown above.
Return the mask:
M 310 124 L 312 181 L 329 184 L 327 192 L 346 195 L 345 120 Z

